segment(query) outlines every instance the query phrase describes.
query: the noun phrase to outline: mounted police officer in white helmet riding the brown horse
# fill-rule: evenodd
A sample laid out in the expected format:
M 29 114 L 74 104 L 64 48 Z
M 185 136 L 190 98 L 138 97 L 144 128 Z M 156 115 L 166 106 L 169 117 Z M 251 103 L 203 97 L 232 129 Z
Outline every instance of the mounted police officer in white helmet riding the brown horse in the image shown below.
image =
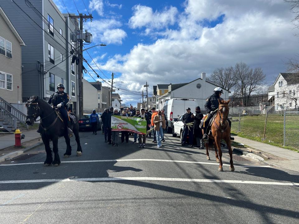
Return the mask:
M 214 114 L 217 113 L 217 109 L 219 108 L 219 101 L 223 100 L 220 97 L 221 93 L 223 93 L 223 90 L 220 87 L 216 87 L 214 89 L 213 95 L 211 95 L 209 98 L 206 99 L 205 109 L 206 109 L 206 113 L 208 114 L 208 116 L 205 119 L 205 123 L 204 123 L 204 126 L 205 126 L 204 133 L 205 134 L 203 135 L 202 139 L 208 139 L 208 135 L 206 132 L 207 132 L 208 125 L 209 125 L 211 118 L 214 116 Z M 231 121 L 229 119 L 227 119 L 227 121 L 231 127 Z M 230 139 L 234 140 L 235 138 L 230 135 Z

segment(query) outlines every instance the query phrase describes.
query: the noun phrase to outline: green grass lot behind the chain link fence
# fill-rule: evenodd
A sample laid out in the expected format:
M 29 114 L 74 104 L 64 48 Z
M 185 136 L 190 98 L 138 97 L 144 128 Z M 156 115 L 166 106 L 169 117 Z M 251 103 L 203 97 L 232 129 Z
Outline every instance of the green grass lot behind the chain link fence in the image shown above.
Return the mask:
M 283 115 L 269 114 L 267 118 L 265 139 L 264 135 L 266 115 L 241 117 L 240 131 L 239 117 L 232 118 L 231 133 L 243 138 L 249 138 L 258 142 L 267 143 L 270 145 L 287 148 L 293 151 L 299 149 L 299 116 L 287 116 L 286 119 L 286 137 L 287 146 L 283 146 Z M 233 121 L 235 120 L 235 121 Z M 294 144 L 294 145 L 290 145 Z

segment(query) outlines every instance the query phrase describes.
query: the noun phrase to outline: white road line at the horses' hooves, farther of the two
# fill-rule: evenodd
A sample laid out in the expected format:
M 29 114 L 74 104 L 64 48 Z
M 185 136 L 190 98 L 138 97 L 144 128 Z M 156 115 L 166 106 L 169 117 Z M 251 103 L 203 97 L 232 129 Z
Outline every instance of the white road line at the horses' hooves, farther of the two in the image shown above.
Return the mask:
M 61 163 L 125 162 L 125 161 L 157 161 L 157 162 L 196 163 L 196 164 L 208 164 L 208 165 L 218 165 L 219 166 L 219 163 L 211 163 L 211 162 L 196 162 L 196 161 L 181 161 L 181 160 L 160 160 L 160 159 L 83 160 L 83 161 L 62 161 Z M 44 164 L 44 162 L 2 164 L 0 166 L 18 166 L 18 165 L 31 165 L 31 164 Z M 223 166 L 230 166 L 230 164 L 223 164 Z M 272 166 L 246 166 L 246 165 L 244 165 L 244 166 L 236 166 L 236 167 L 264 167 L 264 168 L 272 168 Z

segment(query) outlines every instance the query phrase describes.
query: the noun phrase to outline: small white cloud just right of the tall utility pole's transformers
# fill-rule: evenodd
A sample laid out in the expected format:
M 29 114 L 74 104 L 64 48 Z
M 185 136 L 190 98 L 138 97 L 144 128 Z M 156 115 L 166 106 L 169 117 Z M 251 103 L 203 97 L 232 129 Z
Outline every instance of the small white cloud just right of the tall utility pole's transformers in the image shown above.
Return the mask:
M 93 34 L 93 39 L 97 42 L 122 44 L 122 40 L 126 38 L 127 34 L 119 28 L 121 26 L 121 22 L 115 19 L 93 20 L 90 32 Z

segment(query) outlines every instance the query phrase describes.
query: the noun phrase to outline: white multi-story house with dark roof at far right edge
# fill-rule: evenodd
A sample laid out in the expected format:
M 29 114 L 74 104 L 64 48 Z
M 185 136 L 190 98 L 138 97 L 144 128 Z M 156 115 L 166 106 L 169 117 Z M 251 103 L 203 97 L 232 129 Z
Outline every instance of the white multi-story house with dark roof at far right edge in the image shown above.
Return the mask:
M 298 108 L 299 73 L 279 73 L 275 82 L 268 88 L 268 105 L 275 110 Z

